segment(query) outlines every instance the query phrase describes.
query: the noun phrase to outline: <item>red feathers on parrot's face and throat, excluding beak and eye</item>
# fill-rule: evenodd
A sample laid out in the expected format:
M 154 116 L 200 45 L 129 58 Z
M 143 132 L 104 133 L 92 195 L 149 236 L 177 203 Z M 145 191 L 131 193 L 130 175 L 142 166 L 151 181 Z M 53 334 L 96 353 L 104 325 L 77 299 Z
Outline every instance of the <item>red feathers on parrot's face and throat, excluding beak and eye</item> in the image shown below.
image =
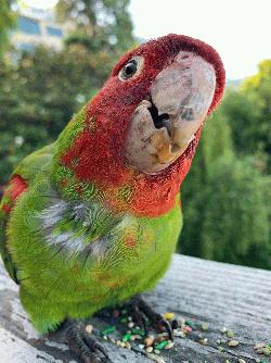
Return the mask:
M 60 162 L 73 170 L 79 180 L 96 184 L 104 191 L 108 205 L 117 211 L 128 210 L 142 216 L 159 216 L 168 212 L 190 170 L 201 129 L 186 151 L 157 175 L 134 170 L 124 157 L 126 133 L 134 109 L 146 99 L 156 75 L 172 62 L 180 50 L 197 53 L 216 71 L 210 114 L 220 102 L 224 88 L 225 76 L 219 54 L 201 40 L 168 35 L 151 40 L 120 59 L 104 87 L 88 104 L 85 130 L 61 158 Z M 119 71 L 134 55 L 144 57 L 142 73 L 134 79 L 120 82 Z M 95 127 L 88 127 L 93 120 Z M 124 187 L 131 190 L 127 200 L 119 197 Z

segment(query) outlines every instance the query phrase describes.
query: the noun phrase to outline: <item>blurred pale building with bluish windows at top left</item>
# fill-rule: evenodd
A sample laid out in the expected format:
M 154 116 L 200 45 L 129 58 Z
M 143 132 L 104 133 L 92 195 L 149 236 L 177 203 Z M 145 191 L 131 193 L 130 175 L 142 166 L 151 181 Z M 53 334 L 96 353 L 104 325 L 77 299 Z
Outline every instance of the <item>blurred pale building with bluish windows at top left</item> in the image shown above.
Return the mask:
M 61 50 L 67 33 L 66 24 L 57 24 L 52 10 L 27 8 L 20 11 L 17 27 L 11 34 L 16 49 L 30 51 L 38 45 Z

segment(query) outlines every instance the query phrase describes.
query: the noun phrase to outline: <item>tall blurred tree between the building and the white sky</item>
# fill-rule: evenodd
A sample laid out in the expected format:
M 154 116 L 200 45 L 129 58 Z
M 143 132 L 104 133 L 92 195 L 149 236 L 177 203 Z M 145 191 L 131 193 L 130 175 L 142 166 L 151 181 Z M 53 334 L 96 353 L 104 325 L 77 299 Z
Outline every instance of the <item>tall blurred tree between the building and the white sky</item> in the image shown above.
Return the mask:
M 81 42 L 92 51 L 119 53 L 134 43 L 129 0 L 60 0 L 59 20 L 68 18 L 75 30 L 68 43 Z

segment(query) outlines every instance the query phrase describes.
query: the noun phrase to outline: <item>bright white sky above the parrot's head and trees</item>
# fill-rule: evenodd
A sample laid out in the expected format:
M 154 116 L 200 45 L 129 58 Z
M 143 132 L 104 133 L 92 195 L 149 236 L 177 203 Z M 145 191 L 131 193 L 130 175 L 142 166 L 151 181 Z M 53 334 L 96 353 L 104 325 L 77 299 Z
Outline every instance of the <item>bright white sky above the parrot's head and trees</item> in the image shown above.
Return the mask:
M 50 8 L 57 0 L 25 0 Z M 227 78 L 257 72 L 271 59 L 271 0 L 131 0 L 134 35 L 143 39 L 169 33 L 202 39 L 221 55 Z

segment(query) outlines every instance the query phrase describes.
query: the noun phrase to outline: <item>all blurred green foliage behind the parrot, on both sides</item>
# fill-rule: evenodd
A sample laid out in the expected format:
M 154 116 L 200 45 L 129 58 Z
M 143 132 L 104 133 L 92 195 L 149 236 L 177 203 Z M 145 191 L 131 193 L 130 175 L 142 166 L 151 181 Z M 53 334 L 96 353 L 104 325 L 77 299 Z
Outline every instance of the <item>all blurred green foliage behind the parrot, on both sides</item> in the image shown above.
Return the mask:
M 10 9 L 9 1 L 2 3 L 1 11 Z M 62 51 L 39 47 L 0 57 L 0 185 L 21 159 L 57 137 L 136 45 L 128 3 L 61 0 L 59 17 L 73 25 Z M 9 13 L 5 32 L 12 18 Z M 240 88 L 229 87 L 206 122 L 181 189 L 182 253 L 271 270 L 270 105 L 267 60 Z

